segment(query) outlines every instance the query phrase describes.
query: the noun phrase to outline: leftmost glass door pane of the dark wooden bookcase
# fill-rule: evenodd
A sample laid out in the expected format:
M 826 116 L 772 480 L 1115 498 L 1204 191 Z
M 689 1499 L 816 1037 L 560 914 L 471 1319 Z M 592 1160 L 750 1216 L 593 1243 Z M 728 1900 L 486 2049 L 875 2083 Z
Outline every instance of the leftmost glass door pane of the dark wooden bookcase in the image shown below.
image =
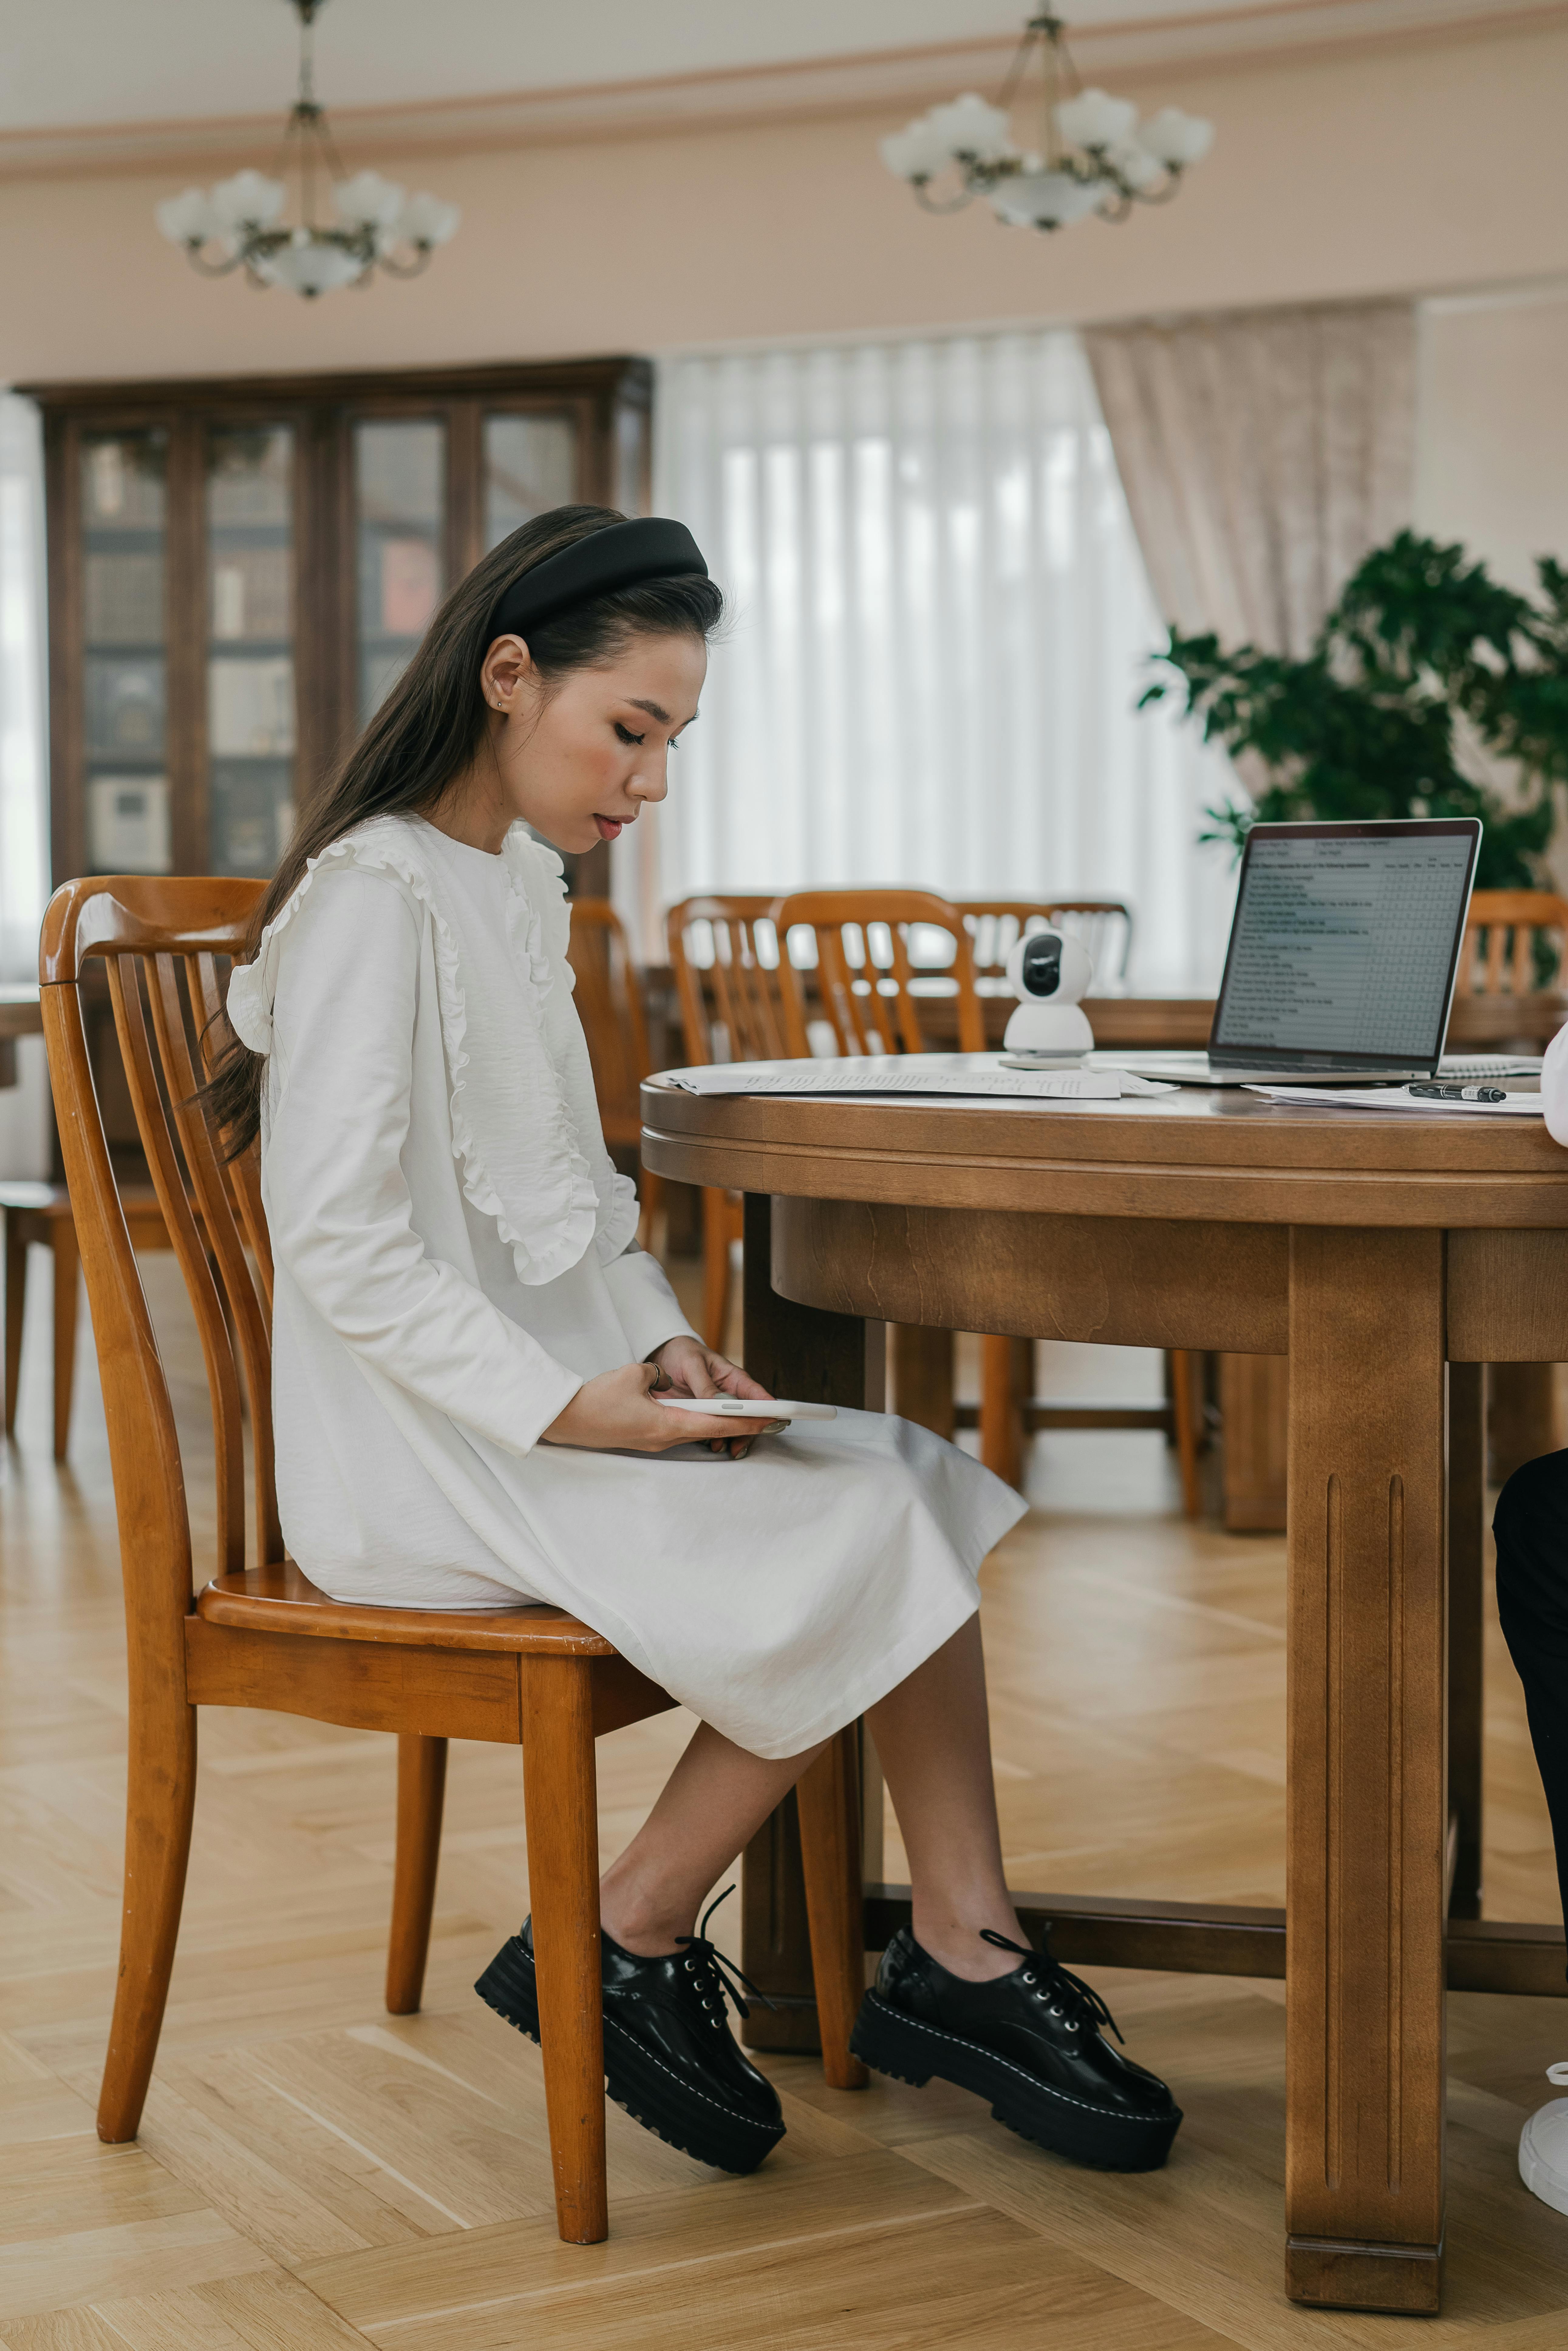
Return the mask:
M 80 468 L 87 870 L 165 875 L 169 435 L 85 433 Z

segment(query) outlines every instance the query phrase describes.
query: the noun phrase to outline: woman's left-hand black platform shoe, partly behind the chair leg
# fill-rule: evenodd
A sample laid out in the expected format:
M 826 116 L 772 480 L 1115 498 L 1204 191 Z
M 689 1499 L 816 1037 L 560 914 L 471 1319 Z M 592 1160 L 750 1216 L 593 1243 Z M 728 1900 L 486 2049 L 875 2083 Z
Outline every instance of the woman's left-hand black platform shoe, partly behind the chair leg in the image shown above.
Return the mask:
M 726 1994 L 743 2017 L 750 2008 L 729 1977 L 729 1963 L 708 1942 L 708 1918 L 719 1902 L 696 1935 L 677 1937 L 682 1949 L 668 1958 L 639 1958 L 599 1935 L 604 2088 L 644 2130 L 698 2163 L 755 2172 L 783 2139 L 785 2123 L 773 2083 L 741 2055 L 724 2015 Z M 755 1991 L 752 1984 L 745 1989 Z M 498 2017 L 538 2041 L 531 1918 L 501 1944 L 475 1991 Z

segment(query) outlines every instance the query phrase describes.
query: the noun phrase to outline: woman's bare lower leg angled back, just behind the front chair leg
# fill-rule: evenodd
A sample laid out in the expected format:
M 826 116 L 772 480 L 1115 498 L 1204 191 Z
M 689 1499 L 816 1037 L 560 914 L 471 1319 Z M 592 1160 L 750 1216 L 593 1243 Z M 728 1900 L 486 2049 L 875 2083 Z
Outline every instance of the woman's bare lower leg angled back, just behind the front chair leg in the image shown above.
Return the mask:
M 823 1744 L 769 1761 L 736 1747 L 712 1723 L 698 1723 L 658 1803 L 599 1881 L 604 1933 L 642 1958 L 672 1951 L 675 1937 L 696 1928 L 696 1907 L 712 1881 Z

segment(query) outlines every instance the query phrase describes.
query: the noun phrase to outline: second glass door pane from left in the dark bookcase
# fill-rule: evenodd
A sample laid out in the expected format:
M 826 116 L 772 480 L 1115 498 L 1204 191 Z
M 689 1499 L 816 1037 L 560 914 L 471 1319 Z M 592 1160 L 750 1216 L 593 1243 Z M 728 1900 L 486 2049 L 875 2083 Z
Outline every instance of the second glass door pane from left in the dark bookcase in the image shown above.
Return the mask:
M 207 820 L 216 875 L 294 830 L 294 428 L 207 433 Z

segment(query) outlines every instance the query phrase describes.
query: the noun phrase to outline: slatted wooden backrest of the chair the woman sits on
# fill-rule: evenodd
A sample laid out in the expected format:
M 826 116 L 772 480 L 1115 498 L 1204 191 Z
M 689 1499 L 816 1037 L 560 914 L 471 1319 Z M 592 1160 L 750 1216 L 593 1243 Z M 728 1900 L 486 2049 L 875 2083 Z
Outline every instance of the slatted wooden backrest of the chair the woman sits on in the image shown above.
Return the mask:
M 169 1665 L 190 1610 L 190 1519 L 169 1385 L 158 1357 L 103 1117 L 87 1060 L 82 969 L 101 957 L 136 1131 L 195 1310 L 216 1455 L 214 1575 L 244 1568 L 244 1441 L 252 1413 L 256 1566 L 282 1561 L 273 1483 L 273 1253 L 256 1152 L 226 1164 L 195 1089 L 202 1030 L 221 1009 L 261 882 L 103 875 L 66 882 L 38 950 L 49 1084 L 103 1375 L 132 1674 Z M 183 1660 L 181 1660 L 183 1672 Z

